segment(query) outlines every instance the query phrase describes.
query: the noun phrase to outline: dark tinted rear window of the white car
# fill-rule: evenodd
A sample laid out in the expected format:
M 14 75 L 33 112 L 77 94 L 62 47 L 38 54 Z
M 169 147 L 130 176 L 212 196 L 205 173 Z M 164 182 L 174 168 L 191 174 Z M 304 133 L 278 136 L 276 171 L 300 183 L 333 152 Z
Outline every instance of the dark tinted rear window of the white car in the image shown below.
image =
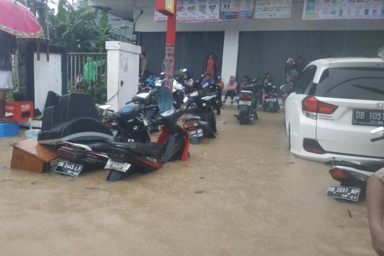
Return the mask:
M 316 86 L 314 95 L 329 98 L 384 101 L 384 69 L 326 69 Z

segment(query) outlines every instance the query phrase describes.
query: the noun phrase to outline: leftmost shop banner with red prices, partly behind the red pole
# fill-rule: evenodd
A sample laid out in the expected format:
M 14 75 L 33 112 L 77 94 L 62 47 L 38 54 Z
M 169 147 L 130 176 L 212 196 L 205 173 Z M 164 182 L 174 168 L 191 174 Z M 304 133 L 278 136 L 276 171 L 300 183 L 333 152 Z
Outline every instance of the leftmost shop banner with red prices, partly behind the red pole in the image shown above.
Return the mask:
M 220 0 L 177 1 L 178 22 L 215 22 L 220 16 Z M 155 11 L 155 22 L 165 22 L 166 16 Z

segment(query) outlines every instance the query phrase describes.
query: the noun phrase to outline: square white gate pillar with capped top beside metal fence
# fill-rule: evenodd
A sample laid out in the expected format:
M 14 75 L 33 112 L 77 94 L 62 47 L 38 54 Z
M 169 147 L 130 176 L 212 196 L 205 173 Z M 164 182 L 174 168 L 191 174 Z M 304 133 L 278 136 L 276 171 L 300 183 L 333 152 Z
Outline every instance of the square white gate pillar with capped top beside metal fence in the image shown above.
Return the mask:
M 111 109 L 118 111 L 137 93 L 141 46 L 107 41 L 105 49 L 108 60 L 106 104 L 112 104 Z

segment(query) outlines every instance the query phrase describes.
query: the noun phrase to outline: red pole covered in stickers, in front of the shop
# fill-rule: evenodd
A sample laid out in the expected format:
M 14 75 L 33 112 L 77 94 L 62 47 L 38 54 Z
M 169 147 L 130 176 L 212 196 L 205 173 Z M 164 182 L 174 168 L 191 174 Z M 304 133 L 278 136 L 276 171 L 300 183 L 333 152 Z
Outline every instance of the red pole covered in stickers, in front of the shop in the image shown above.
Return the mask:
M 167 32 L 165 40 L 165 78 L 166 85 L 170 87 L 172 92 L 174 66 L 175 66 L 175 46 L 176 46 L 176 15 L 177 0 L 174 0 L 174 14 L 167 15 Z

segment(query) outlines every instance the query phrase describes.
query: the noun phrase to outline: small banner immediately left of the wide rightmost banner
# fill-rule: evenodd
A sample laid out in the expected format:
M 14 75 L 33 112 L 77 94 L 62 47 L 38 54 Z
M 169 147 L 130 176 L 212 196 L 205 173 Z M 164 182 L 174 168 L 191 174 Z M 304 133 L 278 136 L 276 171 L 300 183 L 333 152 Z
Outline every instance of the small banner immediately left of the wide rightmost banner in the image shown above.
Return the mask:
M 256 0 L 254 18 L 290 18 L 292 0 Z

